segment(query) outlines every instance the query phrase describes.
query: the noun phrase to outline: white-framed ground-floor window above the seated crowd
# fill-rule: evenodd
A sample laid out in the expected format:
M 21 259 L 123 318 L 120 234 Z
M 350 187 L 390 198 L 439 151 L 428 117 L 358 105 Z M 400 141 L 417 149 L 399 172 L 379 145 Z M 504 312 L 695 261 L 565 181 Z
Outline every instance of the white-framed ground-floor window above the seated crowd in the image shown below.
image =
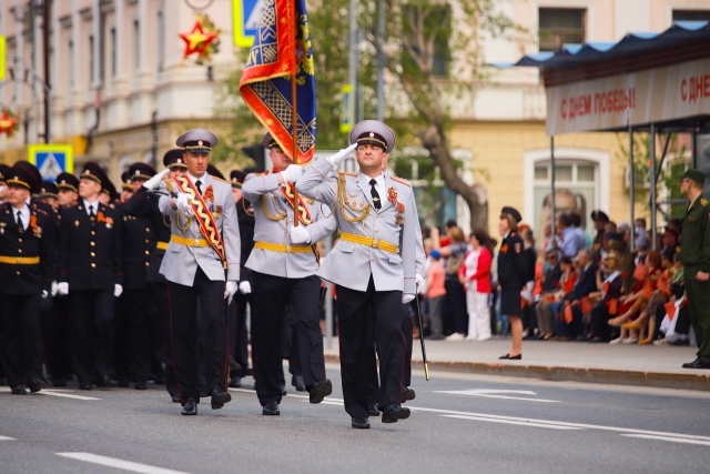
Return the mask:
M 577 211 L 581 215 L 581 228 L 594 234 L 594 222 L 589 212 L 597 208 L 597 163 L 589 161 L 555 160 L 555 212 Z M 550 220 L 550 162 L 535 163 L 534 229 L 538 245 L 545 241 L 544 230 Z

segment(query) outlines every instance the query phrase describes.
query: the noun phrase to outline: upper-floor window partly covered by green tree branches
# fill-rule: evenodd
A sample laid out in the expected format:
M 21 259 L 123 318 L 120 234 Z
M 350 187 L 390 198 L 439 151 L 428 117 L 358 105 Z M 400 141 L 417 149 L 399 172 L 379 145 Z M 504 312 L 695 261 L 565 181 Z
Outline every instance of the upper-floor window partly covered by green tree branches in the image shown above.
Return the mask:
M 448 69 L 452 60 L 449 51 L 448 39 L 452 36 L 452 10 L 450 7 L 435 7 L 433 11 L 426 11 L 424 17 L 423 29 L 417 28 L 418 20 L 424 16 L 422 7 L 407 6 L 403 9 L 404 14 L 404 28 L 403 28 L 403 41 L 412 47 L 415 57 L 419 60 L 427 61 L 434 75 L 447 77 Z M 428 40 L 429 37 L 434 37 L 434 51 L 430 51 L 430 58 L 423 56 L 417 44 L 422 38 Z M 425 41 L 426 41 L 425 40 Z M 427 52 L 428 53 L 428 52 Z M 403 68 L 405 74 L 407 70 L 410 70 L 414 77 L 417 61 L 412 57 L 412 53 L 405 49 Z

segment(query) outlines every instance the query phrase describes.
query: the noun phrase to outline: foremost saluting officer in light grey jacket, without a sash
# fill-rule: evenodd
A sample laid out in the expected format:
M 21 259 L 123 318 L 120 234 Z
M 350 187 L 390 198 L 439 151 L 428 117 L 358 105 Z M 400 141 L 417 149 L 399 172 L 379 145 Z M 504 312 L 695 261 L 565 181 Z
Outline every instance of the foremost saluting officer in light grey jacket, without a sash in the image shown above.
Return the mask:
M 317 160 L 296 185 L 304 195 L 332 206 L 341 230 L 341 240 L 318 275 L 336 285 L 345 411 L 354 428 L 368 428 L 368 329 L 375 325 L 379 359 L 377 407 L 383 423 L 395 423 L 409 416 L 400 405 L 402 305 L 415 297 L 424 279 L 415 272 L 419 225 L 412 186 L 383 173 L 395 147 L 394 132 L 382 122 L 365 120 L 353 128 L 351 143 Z M 328 179 L 354 149 L 359 172 Z

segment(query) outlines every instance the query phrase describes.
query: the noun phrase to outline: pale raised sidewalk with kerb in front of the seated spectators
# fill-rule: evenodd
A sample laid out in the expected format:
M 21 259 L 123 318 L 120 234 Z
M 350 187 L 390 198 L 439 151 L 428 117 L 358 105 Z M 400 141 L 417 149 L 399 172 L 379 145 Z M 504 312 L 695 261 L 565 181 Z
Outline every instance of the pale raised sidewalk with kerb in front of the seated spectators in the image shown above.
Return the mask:
M 499 361 L 508 351 L 510 337 L 494 336 L 484 342 L 426 341 L 432 376 L 437 371 L 447 371 L 710 391 L 710 371 L 681 369 L 683 363 L 696 359 L 696 347 L 524 341 L 521 361 Z M 333 347 L 325 350 L 325 357 L 331 362 L 339 360 L 337 337 L 333 337 Z M 412 367 L 422 369 L 418 339 L 414 341 Z

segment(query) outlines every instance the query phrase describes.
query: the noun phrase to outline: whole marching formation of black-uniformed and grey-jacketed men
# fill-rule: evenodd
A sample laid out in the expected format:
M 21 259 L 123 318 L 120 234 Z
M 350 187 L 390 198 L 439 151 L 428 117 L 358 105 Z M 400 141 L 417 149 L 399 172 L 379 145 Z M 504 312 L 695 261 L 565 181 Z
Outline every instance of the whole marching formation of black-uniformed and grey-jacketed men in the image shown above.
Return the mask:
M 285 356 L 292 384 L 321 403 L 333 391 L 318 324 L 331 282 L 352 426 L 407 418 L 404 321 L 425 283 L 424 251 L 413 190 L 385 170 L 394 132 L 361 122 L 349 148 L 305 171 L 266 133 L 273 168 L 229 180 L 210 164 L 216 142 L 204 129 L 183 133 L 163 171 L 133 163 L 120 191 L 94 162 L 55 181 L 26 161 L 0 168 L 0 363 L 11 392 L 153 381 L 196 415 L 201 399 L 221 409 L 253 375 L 273 416 Z M 353 150 L 359 172 L 337 172 Z

